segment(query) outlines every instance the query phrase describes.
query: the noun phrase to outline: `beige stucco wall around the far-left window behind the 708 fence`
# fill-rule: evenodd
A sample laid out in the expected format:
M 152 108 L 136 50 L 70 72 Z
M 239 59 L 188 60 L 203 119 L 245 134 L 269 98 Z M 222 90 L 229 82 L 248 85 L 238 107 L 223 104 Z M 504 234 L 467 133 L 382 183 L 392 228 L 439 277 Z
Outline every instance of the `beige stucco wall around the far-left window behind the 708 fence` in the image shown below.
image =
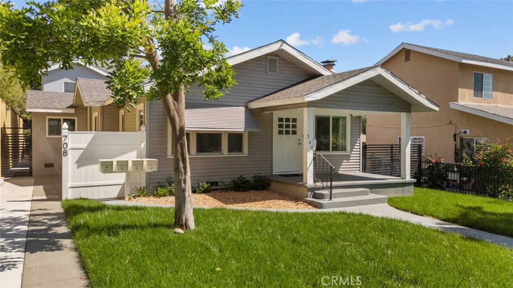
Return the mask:
M 77 117 L 77 130 L 86 129 L 86 109 L 75 108 L 75 113 L 32 113 L 32 175 L 60 175 L 62 171 L 61 137 L 46 136 L 46 117 Z M 45 168 L 45 163 L 53 167 Z

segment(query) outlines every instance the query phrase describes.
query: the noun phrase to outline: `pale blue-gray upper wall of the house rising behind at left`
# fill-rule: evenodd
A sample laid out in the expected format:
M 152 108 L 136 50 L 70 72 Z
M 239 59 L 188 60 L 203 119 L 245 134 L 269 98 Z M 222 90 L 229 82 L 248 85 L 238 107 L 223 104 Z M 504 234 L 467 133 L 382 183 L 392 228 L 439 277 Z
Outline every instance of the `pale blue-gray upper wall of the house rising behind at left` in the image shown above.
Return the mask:
M 100 73 L 97 73 L 84 66 L 73 66 L 72 70 L 55 69 L 43 76 L 43 91 L 64 92 L 64 82 L 76 82 L 76 77 L 91 79 L 107 79 Z

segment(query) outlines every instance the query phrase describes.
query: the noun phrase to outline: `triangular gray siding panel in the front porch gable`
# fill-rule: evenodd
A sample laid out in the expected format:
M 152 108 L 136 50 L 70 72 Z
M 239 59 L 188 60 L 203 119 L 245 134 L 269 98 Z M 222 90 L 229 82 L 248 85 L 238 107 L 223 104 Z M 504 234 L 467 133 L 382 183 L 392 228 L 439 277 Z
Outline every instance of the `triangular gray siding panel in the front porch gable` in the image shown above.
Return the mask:
M 310 107 L 362 111 L 410 112 L 410 105 L 371 80 L 312 101 Z

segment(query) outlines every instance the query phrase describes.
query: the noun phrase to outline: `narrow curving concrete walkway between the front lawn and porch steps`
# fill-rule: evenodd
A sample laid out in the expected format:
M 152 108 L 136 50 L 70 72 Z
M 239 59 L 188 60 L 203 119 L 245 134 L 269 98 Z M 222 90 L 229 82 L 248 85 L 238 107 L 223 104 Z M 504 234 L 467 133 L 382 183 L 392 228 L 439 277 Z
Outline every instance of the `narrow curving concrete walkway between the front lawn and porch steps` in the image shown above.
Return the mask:
M 137 206 L 148 206 L 148 207 L 173 207 L 173 205 L 165 205 L 165 204 L 149 204 L 149 203 L 140 203 L 140 202 L 131 202 L 125 200 L 118 200 L 115 198 L 104 199 L 104 203 L 112 204 L 112 205 L 137 205 Z M 212 207 L 195 207 L 195 208 L 212 208 Z M 468 227 L 463 227 L 457 224 L 441 221 L 434 218 L 419 216 L 415 214 L 411 214 L 408 212 L 401 211 L 399 209 L 393 208 L 388 204 L 374 204 L 374 205 L 364 205 L 357 207 L 346 207 L 346 208 L 337 208 L 337 209 L 319 209 L 319 210 L 311 210 L 311 209 L 257 209 L 257 208 L 234 208 L 229 207 L 228 209 L 236 209 L 236 210 L 265 210 L 265 211 L 273 211 L 273 212 L 301 212 L 301 213 L 325 213 L 325 212 L 350 212 L 350 213 L 361 213 L 367 214 L 377 217 L 391 218 L 403 220 L 415 224 L 423 225 L 427 228 L 438 229 L 446 232 L 458 233 L 465 236 L 470 236 L 476 239 L 485 240 L 488 242 L 492 242 L 497 245 L 503 245 L 508 248 L 513 248 L 513 238 L 509 238 L 506 236 L 501 236 L 497 234 L 492 234 L 488 232 L 484 232 L 477 229 L 472 229 Z

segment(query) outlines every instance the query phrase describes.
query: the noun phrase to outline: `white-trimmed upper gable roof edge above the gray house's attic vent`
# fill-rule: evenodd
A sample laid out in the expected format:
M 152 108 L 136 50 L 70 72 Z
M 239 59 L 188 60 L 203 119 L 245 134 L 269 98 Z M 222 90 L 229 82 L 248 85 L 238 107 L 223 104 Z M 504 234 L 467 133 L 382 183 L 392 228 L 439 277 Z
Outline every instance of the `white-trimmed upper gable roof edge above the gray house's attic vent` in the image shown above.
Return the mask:
M 322 66 L 320 63 L 317 63 L 317 61 L 308 57 L 303 52 L 299 51 L 298 49 L 295 49 L 294 47 L 290 46 L 287 42 L 281 39 L 277 42 L 273 42 L 237 55 L 230 56 L 226 58 L 226 61 L 228 61 L 228 63 L 233 66 L 269 53 L 278 54 L 278 56 L 298 66 L 299 68 L 308 72 L 312 76 L 333 74 L 333 72 L 324 68 L 324 66 Z

